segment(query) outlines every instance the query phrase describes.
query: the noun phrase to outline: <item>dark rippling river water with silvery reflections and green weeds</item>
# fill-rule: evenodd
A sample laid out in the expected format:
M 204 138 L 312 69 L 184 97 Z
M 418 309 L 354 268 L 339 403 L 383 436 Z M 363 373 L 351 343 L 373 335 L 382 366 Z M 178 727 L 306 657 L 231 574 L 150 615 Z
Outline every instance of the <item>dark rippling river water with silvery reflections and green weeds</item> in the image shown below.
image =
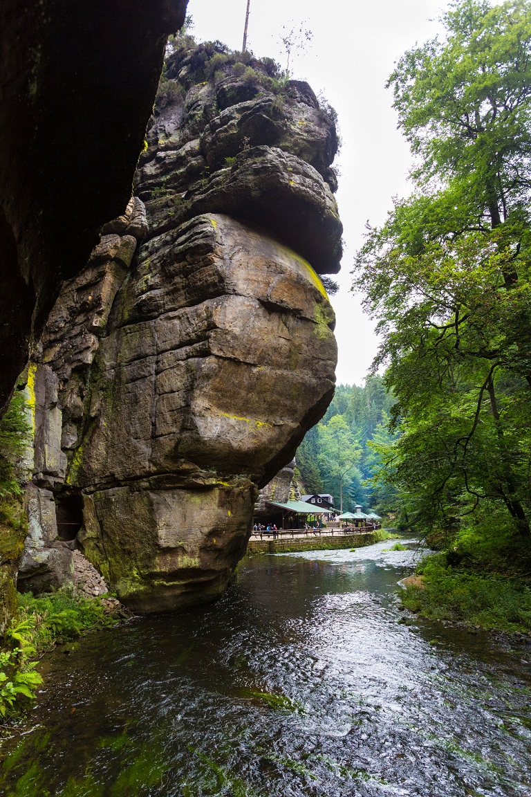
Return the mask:
M 404 618 L 391 545 L 244 559 L 210 607 L 53 654 L 0 793 L 531 795 L 531 652 Z

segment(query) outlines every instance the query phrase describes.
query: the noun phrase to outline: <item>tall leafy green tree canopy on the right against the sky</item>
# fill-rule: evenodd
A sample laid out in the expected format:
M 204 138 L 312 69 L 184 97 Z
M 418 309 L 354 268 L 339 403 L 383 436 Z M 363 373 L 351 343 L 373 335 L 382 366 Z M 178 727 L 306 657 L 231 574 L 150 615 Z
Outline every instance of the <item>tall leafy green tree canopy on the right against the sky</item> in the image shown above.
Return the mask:
M 416 192 L 355 263 L 401 433 L 379 477 L 424 524 L 486 502 L 529 536 L 531 7 L 464 0 L 444 22 L 388 81 Z

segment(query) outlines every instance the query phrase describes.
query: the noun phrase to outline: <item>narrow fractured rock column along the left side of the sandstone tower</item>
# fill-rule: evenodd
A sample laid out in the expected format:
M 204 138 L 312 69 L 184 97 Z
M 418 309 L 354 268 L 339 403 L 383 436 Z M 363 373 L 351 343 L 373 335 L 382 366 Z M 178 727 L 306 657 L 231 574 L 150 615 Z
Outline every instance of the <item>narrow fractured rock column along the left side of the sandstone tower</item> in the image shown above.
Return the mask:
M 22 591 L 57 589 L 75 577 L 68 532 L 76 523 L 58 523 L 57 506 L 61 514 L 64 502 L 76 499 L 67 475 L 81 442 L 88 375 L 137 238 L 146 234 L 143 202 L 131 199 L 115 226 L 122 234 L 103 235 L 80 276 L 64 283 L 29 366 L 26 390 L 34 433 L 25 492 L 29 530 L 18 563 Z

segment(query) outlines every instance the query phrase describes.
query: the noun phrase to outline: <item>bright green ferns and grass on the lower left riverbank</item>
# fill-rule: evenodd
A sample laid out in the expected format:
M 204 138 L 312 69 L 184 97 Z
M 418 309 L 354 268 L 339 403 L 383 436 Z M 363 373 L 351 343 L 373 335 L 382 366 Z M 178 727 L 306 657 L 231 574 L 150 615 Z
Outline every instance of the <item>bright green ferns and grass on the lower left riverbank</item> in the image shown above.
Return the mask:
M 18 618 L 7 627 L 0 650 L 0 720 L 12 720 L 31 705 L 42 684 L 37 658 L 88 630 L 117 622 L 100 599 L 84 598 L 68 587 L 37 597 L 19 593 L 18 603 Z

